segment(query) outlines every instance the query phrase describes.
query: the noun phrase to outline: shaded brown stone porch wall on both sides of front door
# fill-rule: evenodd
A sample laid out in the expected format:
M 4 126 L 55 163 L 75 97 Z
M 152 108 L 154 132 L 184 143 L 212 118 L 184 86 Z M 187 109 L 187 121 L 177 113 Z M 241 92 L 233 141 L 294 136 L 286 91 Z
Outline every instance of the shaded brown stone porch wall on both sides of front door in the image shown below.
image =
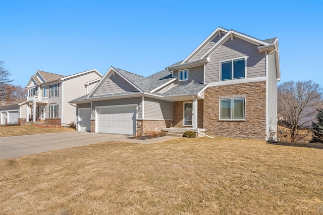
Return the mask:
M 174 125 L 175 128 L 191 128 L 191 126 L 183 125 L 183 109 L 184 101 L 175 101 L 174 102 Z M 193 101 L 192 101 L 193 102 Z M 203 113 L 204 113 L 204 101 L 197 101 L 197 127 L 203 127 Z

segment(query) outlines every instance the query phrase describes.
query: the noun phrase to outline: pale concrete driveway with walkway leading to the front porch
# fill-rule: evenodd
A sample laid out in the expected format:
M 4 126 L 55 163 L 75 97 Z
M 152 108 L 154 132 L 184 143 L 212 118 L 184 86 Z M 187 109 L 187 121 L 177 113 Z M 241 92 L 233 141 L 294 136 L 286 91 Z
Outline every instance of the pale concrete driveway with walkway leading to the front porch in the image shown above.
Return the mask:
M 0 159 L 19 157 L 62 148 L 89 145 L 106 141 L 123 141 L 150 144 L 174 137 L 159 137 L 148 140 L 127 139 L 126 135 L 101 134 L 88 132 L 62 132 L 50 134 L 35 134 L 0 138 Z

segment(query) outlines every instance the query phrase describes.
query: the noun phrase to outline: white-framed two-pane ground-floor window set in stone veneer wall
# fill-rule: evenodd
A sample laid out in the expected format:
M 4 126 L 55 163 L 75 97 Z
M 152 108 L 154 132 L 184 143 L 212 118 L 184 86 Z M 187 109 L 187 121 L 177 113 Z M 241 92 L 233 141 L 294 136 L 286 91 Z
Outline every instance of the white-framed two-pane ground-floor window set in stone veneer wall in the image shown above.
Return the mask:
M 245 102 L 245 98 L 232 98 L 220 100 L 220 119 L 244 120 Z

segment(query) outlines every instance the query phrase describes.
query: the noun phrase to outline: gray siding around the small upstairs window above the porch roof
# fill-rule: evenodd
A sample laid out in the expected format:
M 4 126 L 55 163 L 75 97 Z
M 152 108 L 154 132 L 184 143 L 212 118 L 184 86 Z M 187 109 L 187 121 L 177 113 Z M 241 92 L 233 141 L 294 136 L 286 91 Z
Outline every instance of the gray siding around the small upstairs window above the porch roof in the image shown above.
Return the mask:
M 204 81 L 204 66 L 188 68 L 188 80 L 179 81 L 179 70 L 174 71 L 174 76 L 177 76 L 175 84 L 187 85 L 187 84 L 200 84 Z

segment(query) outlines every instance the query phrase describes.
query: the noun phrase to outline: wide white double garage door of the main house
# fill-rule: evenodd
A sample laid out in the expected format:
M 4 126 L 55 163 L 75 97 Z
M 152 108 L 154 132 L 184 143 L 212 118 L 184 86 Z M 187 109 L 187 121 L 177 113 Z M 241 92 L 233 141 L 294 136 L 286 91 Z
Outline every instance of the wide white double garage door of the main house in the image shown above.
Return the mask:
M 136 106 L 97 108 L 98 133 L 130 134 L 136 132 Z

